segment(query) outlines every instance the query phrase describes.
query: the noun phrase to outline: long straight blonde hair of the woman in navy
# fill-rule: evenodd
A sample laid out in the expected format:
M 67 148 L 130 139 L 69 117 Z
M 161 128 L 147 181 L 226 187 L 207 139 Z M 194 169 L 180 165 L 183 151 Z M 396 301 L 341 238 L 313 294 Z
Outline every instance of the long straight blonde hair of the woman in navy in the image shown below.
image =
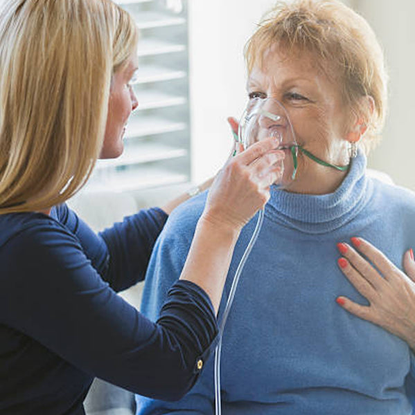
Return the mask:
M 69 199 L 100 154 L 112 75 L 134 53 L 110 0 L 6 0 L 0 10 L 0 214 Z

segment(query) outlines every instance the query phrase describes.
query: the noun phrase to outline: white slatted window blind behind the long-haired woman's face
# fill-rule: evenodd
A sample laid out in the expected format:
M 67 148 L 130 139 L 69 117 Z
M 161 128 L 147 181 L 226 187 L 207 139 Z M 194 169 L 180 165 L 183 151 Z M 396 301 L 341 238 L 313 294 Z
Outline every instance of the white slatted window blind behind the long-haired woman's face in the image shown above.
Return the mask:
M 139 107 L 124 153 L 98 160 L 85 192 L 123 192 L 190 181 L 188 11 L 184 0 L 118 0 L 139 28 Z

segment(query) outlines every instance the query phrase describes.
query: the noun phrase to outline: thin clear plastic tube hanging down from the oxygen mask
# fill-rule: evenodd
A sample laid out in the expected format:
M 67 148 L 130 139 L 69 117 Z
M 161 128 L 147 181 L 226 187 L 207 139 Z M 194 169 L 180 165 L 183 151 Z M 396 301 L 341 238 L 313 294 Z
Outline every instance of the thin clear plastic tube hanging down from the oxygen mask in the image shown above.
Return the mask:
M 240 274 L 242 273 L 242 270 L 245 266 L 245 262 L 247 261 L 247 258 L 249 257 L 249 254 L 251 253 L 251 250 L 255 245 L 256 239 L 258 238 L 258 234 L 263 225 L 263 220 L 264 220 L 264 211 L 260 210 L 258 214 L 258 221 L 256 222 L 254 233 L 252 234 L 251 240 L 249 241 L 248 246 L 245 249 L 244 254 L 242 255 L 242 259 L 240 259 L 240 263 L 238 265 L 238 268 L 236 269 L 235 277 L 233 277 L 231 291 L 229 291 L 227 305 L 224 308 L 222 321 L 220 322 L 220 326 L 219 326 L 219 342 L 215 349 L 215 414 L 216 415 L 222 414 L 222 400 L 220 397 L 220 352 L 222 351 L 222 334 L 224 330 L 224 325 L 227 322 L 229 311 L 231 311 L 233 297 L 235 297 L 236 287 L 238 286 Z

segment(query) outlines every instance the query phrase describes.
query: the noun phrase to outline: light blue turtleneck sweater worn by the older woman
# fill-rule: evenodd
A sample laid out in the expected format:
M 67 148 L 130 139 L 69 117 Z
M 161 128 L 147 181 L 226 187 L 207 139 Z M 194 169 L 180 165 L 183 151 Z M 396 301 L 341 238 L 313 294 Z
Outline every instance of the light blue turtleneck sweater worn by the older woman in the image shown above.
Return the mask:
M 412 414 L 407 344 L 335 302 L 346 295 L 367 304 L 337 268 L 337 242 L 364 237 L 397 266 L 415 246 L 415 195 L 365 170 L 359 154 L 332 194 L 272 191 L 224 331 L 224 415 Z M 157 241 L 142 306 L 152 319 L 180 275 L 205 200 L 203 194 L 175 210 Z M 219 319 L 255 225 L 256 218 L 238 240 Z M 137 413 L 214 414 L 213 360 L 184 399 L 137 396 Z

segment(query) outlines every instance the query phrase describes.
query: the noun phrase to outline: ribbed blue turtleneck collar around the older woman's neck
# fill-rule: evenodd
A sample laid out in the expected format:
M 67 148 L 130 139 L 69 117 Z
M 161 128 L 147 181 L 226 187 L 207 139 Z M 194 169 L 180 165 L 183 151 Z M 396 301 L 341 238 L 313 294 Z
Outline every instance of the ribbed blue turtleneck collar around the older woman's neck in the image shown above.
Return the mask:
M 369 200 L 363 151 L 351 160 L 342 184 L 333 193 L 314 195 L 278 190 L 272 186 L 265 216 L 301 232 L 319 234 L 340 228 L 351 221 Z

